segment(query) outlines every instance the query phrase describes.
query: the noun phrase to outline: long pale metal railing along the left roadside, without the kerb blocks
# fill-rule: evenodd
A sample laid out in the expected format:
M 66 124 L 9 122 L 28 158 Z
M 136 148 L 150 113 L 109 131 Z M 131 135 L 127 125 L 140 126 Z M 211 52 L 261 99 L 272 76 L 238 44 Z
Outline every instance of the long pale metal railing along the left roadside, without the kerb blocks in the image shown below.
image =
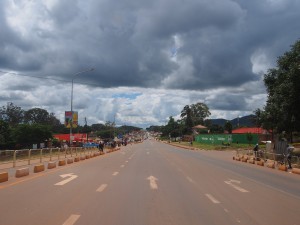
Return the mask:
M 98 151 L 99 149 L 96 147 L 1 150 L 0 169 L 32 165 L 73 156 L 88 155 Z

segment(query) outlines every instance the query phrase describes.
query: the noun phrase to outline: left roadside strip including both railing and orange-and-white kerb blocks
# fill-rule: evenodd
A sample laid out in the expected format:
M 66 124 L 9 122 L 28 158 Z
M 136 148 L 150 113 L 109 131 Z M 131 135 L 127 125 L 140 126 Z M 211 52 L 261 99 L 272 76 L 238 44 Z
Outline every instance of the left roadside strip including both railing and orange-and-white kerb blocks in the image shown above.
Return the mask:
M 120 148 L 108 149 L 106 152 L 117 150 Z M 65 166 L 103 154 L 104 152 L 96 147 L 2 150 L 0 151 L 0 183 L 8 181 L 10 173 L 7 171 L 12 169 L 15 171 L 15 177 L 20 178 L 28 176 L 30 170 L 39 173 L 45 171 L 45 168 L 54 169 L 57 165 Z

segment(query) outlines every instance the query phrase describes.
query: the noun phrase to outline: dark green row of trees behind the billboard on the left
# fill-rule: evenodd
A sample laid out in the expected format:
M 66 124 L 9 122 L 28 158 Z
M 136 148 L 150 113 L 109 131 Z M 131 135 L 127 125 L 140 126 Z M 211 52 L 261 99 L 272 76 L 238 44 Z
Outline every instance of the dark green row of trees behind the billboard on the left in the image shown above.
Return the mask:
M 84 126 L 73 128 L 73 133 L 88 133 L 101 138 L 113 139 L 117 134 L 126 134 L 140 128 L 132 126 L 116 127 L 114 122 L 105 124 L 85 123 Z M 32 144 L 43 143 L 53 139 L 53 134 L 69 133 L 54 113 L 45 109 L 32 108 L 23 110 L 13 103 L 0 108 L 0 150 L 32 148 Z

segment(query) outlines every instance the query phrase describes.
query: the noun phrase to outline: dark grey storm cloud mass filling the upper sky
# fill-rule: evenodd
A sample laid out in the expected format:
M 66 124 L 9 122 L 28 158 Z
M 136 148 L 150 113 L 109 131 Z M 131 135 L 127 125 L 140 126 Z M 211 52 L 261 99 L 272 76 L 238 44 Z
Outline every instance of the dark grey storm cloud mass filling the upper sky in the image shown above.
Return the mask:
M 297 0 L 20 2 L 0 2 L 1 68 L 71 80 L 94 67 L 76 81 L 107 88 L 236 88 L 261 80 L 253 58 L 275 65 L 300 36 Z

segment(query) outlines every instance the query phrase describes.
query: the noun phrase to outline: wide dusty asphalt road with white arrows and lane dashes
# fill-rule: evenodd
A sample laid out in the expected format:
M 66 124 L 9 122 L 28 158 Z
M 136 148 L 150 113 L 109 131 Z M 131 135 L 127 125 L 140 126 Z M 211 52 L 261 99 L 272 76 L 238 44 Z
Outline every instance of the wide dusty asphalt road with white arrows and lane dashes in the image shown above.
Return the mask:
M 1 225 L 300 224 L 300 176 L 153 140 L 0 184 Z

